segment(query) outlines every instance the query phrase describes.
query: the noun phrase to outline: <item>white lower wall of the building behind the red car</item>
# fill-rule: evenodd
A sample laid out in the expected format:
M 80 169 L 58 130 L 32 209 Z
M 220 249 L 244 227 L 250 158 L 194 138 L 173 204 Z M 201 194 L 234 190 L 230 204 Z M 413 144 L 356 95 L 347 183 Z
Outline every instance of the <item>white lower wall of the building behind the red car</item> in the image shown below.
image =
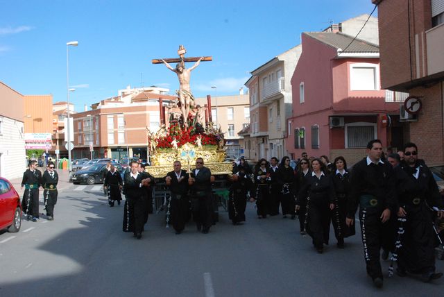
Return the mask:
M 1 117 L 1 116 L 0 116 Z M 24 124 L 8 117 L 2 117 L 0 134 L 0 176 L 11 180 L 21 178 L 26 169 Z

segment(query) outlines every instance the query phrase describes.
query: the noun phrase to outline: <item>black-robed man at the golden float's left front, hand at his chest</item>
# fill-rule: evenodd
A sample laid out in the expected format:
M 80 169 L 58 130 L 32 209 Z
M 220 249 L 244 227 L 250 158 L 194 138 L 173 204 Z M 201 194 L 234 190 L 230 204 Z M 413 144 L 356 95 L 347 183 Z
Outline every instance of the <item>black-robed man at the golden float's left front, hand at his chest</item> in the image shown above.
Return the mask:
M 123 215 L 123 230 L 125 231 L 125 226 L 127 226 L 129 230 L 133 231 L 134 237 L 141 239 L 145 213 L 144 187 L 151 183 L 151 178 L 146 172 L 139 173 L 137 171 L 138 166 L 137 162 L 131 162 L 131 171 L 125 173 L 123 178 L 125 180 L 123 189 L 125 189 L 128 202 Z M 133 226 L 131 226 L 131 223 L 133 223 Z

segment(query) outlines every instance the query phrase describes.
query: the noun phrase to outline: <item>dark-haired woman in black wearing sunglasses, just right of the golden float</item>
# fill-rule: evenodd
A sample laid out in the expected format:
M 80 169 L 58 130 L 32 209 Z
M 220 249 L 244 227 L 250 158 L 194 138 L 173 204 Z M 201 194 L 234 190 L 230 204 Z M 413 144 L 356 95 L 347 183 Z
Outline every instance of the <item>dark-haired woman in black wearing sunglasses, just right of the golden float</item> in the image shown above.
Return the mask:
M 270 205 L 270 165 L 267 160 L 261 159 L 255 166 L 255 182 L 256 182 L 256 207 L 259 219 L 266 219 L 268 214 L 268 205 Z

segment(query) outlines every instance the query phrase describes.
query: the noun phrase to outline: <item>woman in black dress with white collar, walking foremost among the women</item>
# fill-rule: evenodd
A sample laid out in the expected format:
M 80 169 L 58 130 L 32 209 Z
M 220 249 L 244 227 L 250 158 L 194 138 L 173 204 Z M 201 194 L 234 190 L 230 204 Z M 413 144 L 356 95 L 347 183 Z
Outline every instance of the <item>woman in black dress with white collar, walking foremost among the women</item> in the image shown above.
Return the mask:
M 318 253 L 323 253 L 323 244 L 328 244 L 330 235 L 330 210 L 334 208 L 335 194 L 332 177 L 326 173 L 326 168 L 320 159 L 311 162 L 313 171 L 305 178 L 296 202 L 307 201 L 305 212 L 305 228 L 313 239 L 313 245 Z

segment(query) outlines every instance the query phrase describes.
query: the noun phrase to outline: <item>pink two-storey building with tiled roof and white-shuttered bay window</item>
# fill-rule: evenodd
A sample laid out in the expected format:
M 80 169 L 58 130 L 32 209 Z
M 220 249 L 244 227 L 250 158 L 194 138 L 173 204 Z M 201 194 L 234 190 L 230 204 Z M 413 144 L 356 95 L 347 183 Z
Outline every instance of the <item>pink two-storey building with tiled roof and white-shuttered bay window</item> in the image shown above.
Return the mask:
M 293 116 L 287 119 L 291 158 L 306 151 L 343 155 L 354 164 L 370 139 L 402 147 L 399 110 L 406 94 L 381 90 L 379 47 L 352 40 L 339 31 L 302 33 L 302 55 L 291 78 Z

